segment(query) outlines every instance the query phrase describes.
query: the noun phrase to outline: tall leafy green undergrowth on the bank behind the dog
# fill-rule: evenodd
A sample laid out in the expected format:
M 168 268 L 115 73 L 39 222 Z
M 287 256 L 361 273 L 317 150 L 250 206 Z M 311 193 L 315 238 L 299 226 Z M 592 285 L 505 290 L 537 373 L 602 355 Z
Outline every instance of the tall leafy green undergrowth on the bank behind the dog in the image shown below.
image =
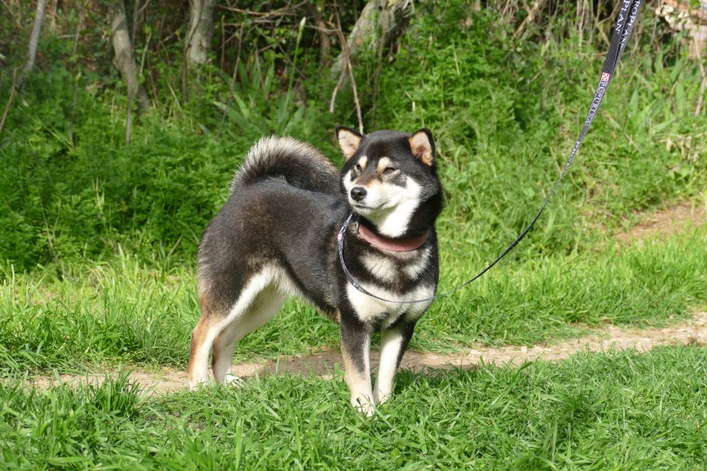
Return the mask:
M 513 37 L 516 25 L 492 9 L 475 12 L 461 1 L 416 8 L 394 61 L 378 75 L 377 57 L 357 64 L 366 129 L 432 129 L 448 202 L 438 224 L 441 239 L 454 253 L 498 252 L 558 175 L 605 45 L 599 36 L 593 43 L 585 38 L 578 53 L 578 38 L 561 33 L 571 11 L 548 25 L 556 34 L 521 40 Z M 597 226 L 612 228 L 633 211 L 703 191 L 707 139 L 700 136 L 707 118 L 692 112 L 699 68 L 680 37 L 655 42 L 648 32 L 657 20 L 648 10 L 641 17 L 644 34 L 624 54 L 542 229 L 518 255 L 588 250 Z M 310 76 L 296 76 L 295 85 L 278 68 L 281 56 L 263 54 L 238 65 L 233 90 L 230 77 L 207 66 L 201 95 L 184 103 L 168 63 L 146 54 L 162 71 L 154 97 L 160 107 L 141 117 L 126 145 L 115 73 L 88 67 L 81 57 L 62 62 L 71 55 L 70 42 L 47 38 L 42 46 L 49 54 L 45 66 L 30 76 L 0 136 L 6 229 L 0 258 L 16 272 L 41 265 L 64 274 L 72 264 L 110 260 L 121 250 L 160 269 L 192 266 L 201 231 L 253 142 L 287 132 L 340 163 L 332 129 L 353 124 L 355 116 L 349 86 L 329 114 L 334 80 L 297 47 Z M 378 93 L 368 88 L 371 74 Z M 8 84 L 7 76 L 2 80 Z M 7 90 L 2 87 L 0 100 Z

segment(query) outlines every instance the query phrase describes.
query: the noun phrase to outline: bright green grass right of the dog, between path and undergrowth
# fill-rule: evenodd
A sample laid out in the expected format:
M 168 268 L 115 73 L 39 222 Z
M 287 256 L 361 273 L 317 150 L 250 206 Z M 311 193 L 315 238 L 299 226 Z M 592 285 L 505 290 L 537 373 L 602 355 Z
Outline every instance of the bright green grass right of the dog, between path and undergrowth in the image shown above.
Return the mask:
M 707 243 L 706 230 L 701 226 L 628 248 L 607 238 L 591 252 L 525 253 L 515 264 L 502 262 L 477 286 L 433 305 L 415 345 L 425 347 L 429 341 L 428 348 L 440 348 L 438 342 L 445 339 L 534 344 L 576 335 L 585 325 L 648 327 L 683 317 L 707 302 L 707 252 L 696 250 Z M 440 291 L 478 271 L 481 262 L 469 259 L 474 256 L 443 252 L 448 269 L 443 269 Z

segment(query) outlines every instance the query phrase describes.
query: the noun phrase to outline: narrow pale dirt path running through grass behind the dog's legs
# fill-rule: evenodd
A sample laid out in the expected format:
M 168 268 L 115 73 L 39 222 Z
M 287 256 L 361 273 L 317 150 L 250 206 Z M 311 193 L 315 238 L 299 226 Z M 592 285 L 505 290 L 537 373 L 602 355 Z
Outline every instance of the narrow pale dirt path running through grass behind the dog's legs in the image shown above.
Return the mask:
M 533 347 L 476 347 L 457 354 L 433 354 L 420 351 L 408 351 L 402 361 L 401 368 L 421 371 L 426 368 L 474 368 L 483 359 L 484 363 L 522 364 L 525 361 L 543 359 L 558 361 L 579 351 L 607 351 L 609 349 L 636 349 L 648 351 L 662 345 L 707 344 L 707 313 L 698 313 L 687 322 L 665 327 L 660 330 L 622 329 L 609 326 L 597 330 L 586 337 L 566 340 L 556 344 L 535 345 Z M 371 352 L 371 362 L 378 364 L 378 352 Z M 332 378 L 334 368 L 339 364 L 341 356 L 338 351 L 323 351 L 308 356 L 281 356 L 276 361 L 266 363 L 245 363 L 233 366 L 233 374 L 241 378 L 264 376 L 281 373 L 301 373 L 305 376 L 322 376 Z M 63 383 L 96 382 L 105 378 L 104 373 L 89 373 L 87 375 L 62 375 Z M 109 372 L 110 374 L 110 372 Z M 163 394 L 181 390 L 186 385 L 185 371 L 163 369 L 157 373 L 134 371 L 133 380 L 140 383 L 147 392 Z M 57 383 L 54 377 L 30 378 L 37 388 L 47 388 Z

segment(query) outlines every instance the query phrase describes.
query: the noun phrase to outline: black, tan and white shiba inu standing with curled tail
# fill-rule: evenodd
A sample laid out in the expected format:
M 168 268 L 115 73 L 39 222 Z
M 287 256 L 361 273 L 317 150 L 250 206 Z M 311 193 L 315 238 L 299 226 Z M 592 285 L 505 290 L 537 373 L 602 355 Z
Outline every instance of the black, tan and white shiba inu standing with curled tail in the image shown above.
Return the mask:
M 359 134 L 337 128 L 346 162 L 339 172 L 311 146 L 261 139 L 235 173 L 230 197 L 199 243 L 201 318 L 192 332 L 189 387 L 230 375 L 233 351 L 271 320 L 288 296 L 305 299 L 341 327 L 341 356 L 351 404 L 371 414 L 390 397 L 397 367 L 438 279 L 435 221 L 443 205 L 435 144 L 413 134 Z M 368 296 L 347 281 L 337 252 Z M 370 337 L 381 332 L 375 388 Z

